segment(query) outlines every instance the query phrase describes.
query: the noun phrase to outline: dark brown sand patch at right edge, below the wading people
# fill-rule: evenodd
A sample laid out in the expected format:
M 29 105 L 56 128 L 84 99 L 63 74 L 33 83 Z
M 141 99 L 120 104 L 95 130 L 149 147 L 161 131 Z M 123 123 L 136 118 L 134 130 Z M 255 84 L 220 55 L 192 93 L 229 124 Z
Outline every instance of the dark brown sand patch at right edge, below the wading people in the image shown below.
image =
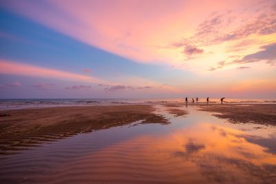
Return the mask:
M 261 125 L 276 125 L 276 105 L 200 105 L 199 110 L 216 112 L 213 114 L 231 123 L 256 123 Z

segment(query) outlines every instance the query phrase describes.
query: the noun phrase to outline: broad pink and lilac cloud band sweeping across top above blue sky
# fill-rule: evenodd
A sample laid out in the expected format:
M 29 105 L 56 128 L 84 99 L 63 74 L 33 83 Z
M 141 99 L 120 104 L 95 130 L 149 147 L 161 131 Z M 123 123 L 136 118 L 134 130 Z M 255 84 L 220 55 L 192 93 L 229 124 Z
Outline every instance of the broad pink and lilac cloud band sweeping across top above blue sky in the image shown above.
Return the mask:
M 200 54 L 206 50 L 202 45 L 275 32 L 271 13 L 275 6 L 268 6 L 268 12 L 257 1 L 10 0 L 3 6 L 78 41 L 134 61 L 177 63 L 184 59 L 177 56 L 183 50 L 167 48 L 160 52 L 155 45 L 186 38 L 196 45 L 186 52 Z M 267 13 L 267 17 L 262 17 L 264 21 L 256 19 L 252 7 Z

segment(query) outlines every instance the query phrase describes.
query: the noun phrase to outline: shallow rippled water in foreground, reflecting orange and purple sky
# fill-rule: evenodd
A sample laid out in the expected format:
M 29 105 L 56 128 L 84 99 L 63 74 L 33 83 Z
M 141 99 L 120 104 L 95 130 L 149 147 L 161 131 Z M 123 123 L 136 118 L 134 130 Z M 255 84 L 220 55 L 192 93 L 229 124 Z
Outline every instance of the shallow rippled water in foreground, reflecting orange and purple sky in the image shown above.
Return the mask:
M 275 127 L 157 108 L 170 124 L 135 122 L 1 156 L 0 183 L 276 182 Z

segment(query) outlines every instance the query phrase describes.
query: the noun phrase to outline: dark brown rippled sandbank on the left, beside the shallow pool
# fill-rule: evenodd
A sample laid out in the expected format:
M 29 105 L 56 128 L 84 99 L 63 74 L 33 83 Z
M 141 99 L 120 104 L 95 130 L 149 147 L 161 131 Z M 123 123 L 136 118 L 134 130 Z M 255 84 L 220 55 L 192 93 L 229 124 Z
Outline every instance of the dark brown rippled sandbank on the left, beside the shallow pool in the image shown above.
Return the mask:
M 153 113 L 150 105 L 6 110 L 0 114 L 0 154 L 17 153 L 45 141 L 55 141 L 82 132 L 104 129 L 143 120 L 141 123 L 168 123 Z

